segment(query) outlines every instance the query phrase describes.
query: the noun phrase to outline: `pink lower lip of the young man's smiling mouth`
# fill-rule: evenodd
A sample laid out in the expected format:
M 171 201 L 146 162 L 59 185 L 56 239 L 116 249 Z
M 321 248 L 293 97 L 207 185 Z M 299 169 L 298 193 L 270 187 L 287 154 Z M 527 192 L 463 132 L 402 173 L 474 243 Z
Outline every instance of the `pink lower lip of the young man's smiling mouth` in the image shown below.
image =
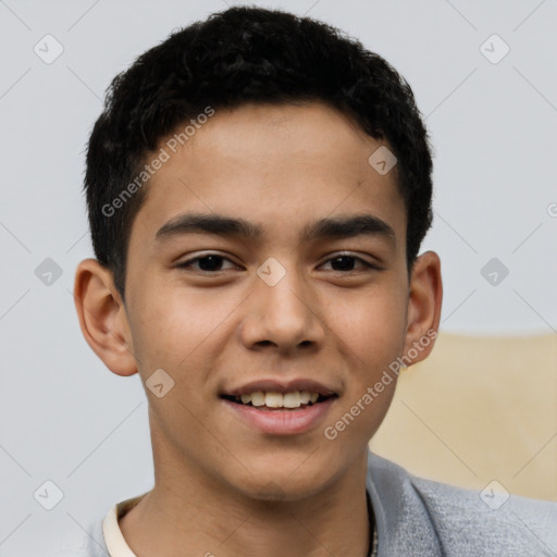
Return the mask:
M 315 428 L 331 409 L 336 397 L 322 403 L 293 410 L 258 410 L 253 406 L 238 405 L 223 399 L 242 420 L 262 433 L 271 435 L 296 435 Z

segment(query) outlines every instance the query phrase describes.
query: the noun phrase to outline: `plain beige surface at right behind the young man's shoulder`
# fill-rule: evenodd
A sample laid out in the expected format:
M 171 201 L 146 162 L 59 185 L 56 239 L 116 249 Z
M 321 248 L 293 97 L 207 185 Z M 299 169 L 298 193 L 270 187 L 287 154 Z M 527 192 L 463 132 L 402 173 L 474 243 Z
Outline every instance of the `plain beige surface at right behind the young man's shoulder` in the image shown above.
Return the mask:
M 557 335 L 441 332 L 370 447 L 431 480 L 557 500 Z

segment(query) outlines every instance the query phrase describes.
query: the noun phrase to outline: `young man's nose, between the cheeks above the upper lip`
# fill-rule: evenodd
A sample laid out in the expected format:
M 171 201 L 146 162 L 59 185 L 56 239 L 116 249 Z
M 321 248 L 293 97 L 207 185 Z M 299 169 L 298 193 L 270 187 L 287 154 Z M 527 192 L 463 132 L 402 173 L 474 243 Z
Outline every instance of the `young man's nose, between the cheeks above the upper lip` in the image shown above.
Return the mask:
M 246 300 L 242 342 L 249 349 L 271 345 L 281 354 L 317 349 L 325 339 L 320 307 L 319 297 L 293 270 L 273 286 L 258 277 Z

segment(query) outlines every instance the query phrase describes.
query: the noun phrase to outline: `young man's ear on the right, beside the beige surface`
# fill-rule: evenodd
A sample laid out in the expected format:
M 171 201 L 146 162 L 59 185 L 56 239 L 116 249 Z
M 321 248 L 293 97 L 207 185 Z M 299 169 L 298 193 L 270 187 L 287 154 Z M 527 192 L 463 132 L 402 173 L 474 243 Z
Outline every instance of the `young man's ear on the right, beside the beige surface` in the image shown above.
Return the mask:
M 414 261 L 410 277 L 403 357 L 409 366 L 424 360 L 432 351 L 442 301 L 441 260 L 434 251 L 425 251 Z

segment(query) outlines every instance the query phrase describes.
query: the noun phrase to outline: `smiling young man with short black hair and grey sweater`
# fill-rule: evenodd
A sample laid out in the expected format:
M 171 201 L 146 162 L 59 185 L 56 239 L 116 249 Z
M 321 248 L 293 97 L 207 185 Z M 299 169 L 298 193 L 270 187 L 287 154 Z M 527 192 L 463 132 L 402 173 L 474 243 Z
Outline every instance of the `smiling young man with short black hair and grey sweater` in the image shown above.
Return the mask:
M 368 449 L 393 362 L 440 323 L 431 172 L 408 84 L 310 18 L 233 8 L 114 79 L 75 299 L 106 366 L 139 373 L 154 486 L 82 555 L 557 552 L 557 504 L 492 510 Z

